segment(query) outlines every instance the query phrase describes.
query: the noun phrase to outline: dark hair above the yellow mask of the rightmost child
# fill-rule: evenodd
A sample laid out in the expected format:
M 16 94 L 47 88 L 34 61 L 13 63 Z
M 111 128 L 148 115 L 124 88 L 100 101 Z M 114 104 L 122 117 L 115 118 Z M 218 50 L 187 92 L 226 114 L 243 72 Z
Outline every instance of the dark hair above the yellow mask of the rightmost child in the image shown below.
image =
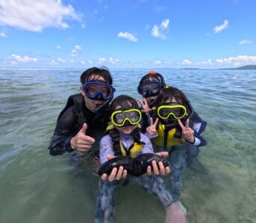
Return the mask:
M 161 106 L 163 103 L 166 103 L 166 100 L 172 100 L 173 98 L 175 98 L 175 100 L 181 105 L 186 106 L 187 97 L 181 90 L 174 87 L 163 88 L 157 97 L 156 105 Z

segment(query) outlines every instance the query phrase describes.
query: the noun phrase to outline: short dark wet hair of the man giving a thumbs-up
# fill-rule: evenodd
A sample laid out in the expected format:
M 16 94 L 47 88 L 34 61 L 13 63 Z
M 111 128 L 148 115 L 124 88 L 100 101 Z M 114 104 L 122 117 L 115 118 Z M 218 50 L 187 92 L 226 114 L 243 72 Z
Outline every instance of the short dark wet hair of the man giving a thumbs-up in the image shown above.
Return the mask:
M 109 85 L 112 85 L 113 83 L 110 71 L 108 71 L 106 67 L 101 67 L 101 68 L 93 67 L 93 68 L 87 69 L 81 74 L 81 77 L 80 77 L 81 84 L 83 85 L 84 83 L 87 83 L 88 80 L 90 80 L 90 77 L 92 76 L 103 77 L 105 80 L 105 83 Z M 95 78 L 93 80 L 97 80 L 97 79 Z

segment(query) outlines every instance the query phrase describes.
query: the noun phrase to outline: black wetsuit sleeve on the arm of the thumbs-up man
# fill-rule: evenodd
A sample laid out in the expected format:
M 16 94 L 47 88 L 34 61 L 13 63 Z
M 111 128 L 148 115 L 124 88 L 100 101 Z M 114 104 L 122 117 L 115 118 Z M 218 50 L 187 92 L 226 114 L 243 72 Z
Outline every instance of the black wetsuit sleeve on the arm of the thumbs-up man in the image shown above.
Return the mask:
M 62 155 L 64 152 L 72 152 L 70 140 L 78 132 L 78 120 L 75 115 L 75 107 L 71 106 L 57 120 L 54 135 L 51 138 L 50 149 L 51 155 Z

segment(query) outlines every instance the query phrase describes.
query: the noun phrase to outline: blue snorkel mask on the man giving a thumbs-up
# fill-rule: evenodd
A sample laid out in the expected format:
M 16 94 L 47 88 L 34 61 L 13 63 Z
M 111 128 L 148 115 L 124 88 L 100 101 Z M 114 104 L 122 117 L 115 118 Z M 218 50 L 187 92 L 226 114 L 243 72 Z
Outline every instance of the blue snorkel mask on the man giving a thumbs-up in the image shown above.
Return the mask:
M 116 91 L 111 85 L 99 80 L 89 81 L 83 85 L 84 94 L 90 100 L 112 100 Z

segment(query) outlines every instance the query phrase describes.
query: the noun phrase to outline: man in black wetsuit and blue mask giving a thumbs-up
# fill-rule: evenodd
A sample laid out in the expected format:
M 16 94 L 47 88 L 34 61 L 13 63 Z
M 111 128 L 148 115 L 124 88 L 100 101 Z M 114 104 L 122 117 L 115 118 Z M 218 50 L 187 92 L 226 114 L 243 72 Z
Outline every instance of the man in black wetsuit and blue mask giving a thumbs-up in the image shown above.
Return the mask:
M 113 99 L 112 77 L 107 68 L 89 68 L 81 74 L 81 93 L 69 97 L 57 118 L 49 146 L 51 155 L 87 153 L 96 138 L 104 135 Z

